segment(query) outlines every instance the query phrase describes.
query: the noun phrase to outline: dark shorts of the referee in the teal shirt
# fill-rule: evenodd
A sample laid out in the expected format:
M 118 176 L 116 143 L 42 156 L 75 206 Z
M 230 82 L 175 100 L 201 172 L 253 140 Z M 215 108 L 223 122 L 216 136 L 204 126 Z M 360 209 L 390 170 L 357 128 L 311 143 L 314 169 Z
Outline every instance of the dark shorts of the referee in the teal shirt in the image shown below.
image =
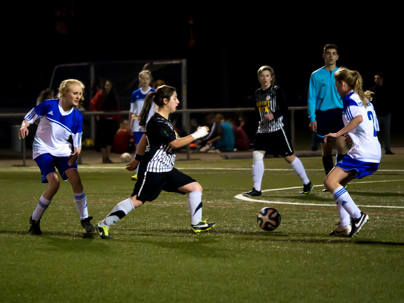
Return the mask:
M 324 138 L 321 138 L 321 136 L 336 133 L 344 128 L 342 109 L 316 111 L 316 121 L 318 142 L 324 142 Z

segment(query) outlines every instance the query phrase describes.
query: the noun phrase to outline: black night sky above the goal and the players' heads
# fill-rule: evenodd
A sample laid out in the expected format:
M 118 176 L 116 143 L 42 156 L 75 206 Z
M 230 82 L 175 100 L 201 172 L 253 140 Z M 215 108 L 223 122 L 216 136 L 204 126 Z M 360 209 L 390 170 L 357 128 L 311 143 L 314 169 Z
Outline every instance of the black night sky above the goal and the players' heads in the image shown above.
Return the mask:
M 339 46 L 337 66 L 359 70 L 367 87 L 377 71 L 392 87 L 401 82 L 394 74 L 397 22 L 388 7 L 234 3 L 74 2 L 73 17 L 68 1 L 12 7 L 2 21 L 8 29 L 2 78 L 9 87 L 2 99 L 36 98 L 57 64 L 186 58 L 191 108 L 250 107 L 247 97 L 259 87 L 256 73 L 264 64 L 274 67 L 289 103 L 305 105 L 310 75 L 324 65 L 326 43 Z M 55 31 L 58 7 L 70 16 L 67 34 Z

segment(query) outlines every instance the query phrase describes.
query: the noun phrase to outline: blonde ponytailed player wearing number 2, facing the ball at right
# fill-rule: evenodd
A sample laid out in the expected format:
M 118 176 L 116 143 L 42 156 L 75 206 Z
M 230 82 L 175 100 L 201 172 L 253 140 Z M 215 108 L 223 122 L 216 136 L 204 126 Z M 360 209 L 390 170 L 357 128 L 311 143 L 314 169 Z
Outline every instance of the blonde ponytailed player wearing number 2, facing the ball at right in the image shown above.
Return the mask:
M 328 191 L 337 203 L 340 222 L 330 233 L 332 236 L 354 236 L 369 220 L 369 216 L 357 207 L 344 186 L 353 179 L 361 179 L 377 171 L 381 147 L 376 131 L 379 130 L 371 91 L 362 90 L 362 77 L 357 71 L 339 68 L 335 85 L 343 98 L 342 119 L 345 127 L 337 133 L 325 135 L 325 140 L 346 136 L 352 142 L 348 154 L 331 170 L 324 180 Z

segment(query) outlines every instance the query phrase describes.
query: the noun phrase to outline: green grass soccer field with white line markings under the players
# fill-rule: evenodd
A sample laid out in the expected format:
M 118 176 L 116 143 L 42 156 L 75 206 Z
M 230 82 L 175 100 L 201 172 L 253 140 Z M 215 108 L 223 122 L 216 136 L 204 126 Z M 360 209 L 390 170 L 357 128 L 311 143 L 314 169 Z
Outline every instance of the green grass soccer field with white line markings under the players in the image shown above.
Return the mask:
M 301 161 L 321 185 L 321 158 Z M 94 224 L 130 196 L 134 182 L 123 167 L 79 167 Z M 307 196 L 283 189 L 245 201 L 235 196 L 252 187 L 251 160 L 176 167 L 204 187 L 203 217 L 217 222 L 209 233 L 191 233 L 186 198 L 163 192 L 112 226 L 113 239 L 87 236 L 65 182 L 41 220 L 43 235 L 30 235 L 44 188 L 39 170 L 0 169 L 0 301 L 404 301 L 404 156 L 383 156 L 378 172 L 348 185 L 370 217 L 354 238 L 328 236 L 338 214 L 321 186 Z M 301 185 L 282 159 L 265 160 L 265 168 L 263 189 Z M 282 216 L 274 232 L 256 223 L 267 206 Z

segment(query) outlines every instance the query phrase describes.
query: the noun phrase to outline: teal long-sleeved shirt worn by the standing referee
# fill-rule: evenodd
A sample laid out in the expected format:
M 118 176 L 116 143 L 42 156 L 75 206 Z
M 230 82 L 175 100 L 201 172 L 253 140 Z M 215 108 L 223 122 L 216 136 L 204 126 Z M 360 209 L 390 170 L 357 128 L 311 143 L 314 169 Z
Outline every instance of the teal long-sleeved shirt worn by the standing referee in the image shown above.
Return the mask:
M 325 67 L 322 67 L 313 72 L 310 77 L 307 98 L 310 122 L 316 121 L 316 110 L 342 109 L 342 98 L 335 86 L 334 73 L 337 69 L 336 67 L 333 71 L 327 71 Z

